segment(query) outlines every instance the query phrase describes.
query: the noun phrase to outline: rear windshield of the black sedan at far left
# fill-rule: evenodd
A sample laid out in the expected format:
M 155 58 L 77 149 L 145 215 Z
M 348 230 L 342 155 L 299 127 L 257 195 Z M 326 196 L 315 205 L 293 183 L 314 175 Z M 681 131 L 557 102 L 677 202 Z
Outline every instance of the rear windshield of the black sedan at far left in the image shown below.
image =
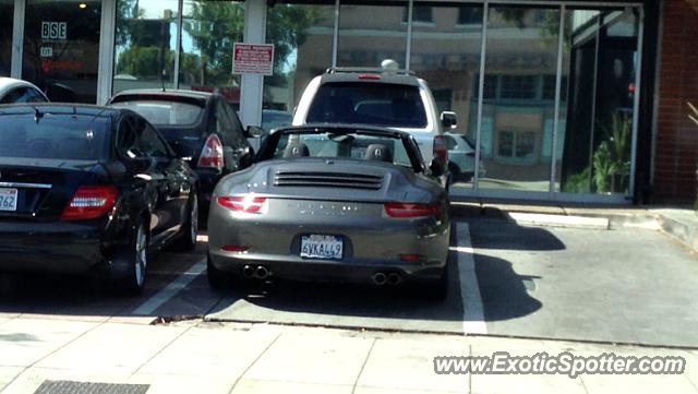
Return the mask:
M 108 120 L 46 114 L 0 117 L 0 157 L 101 160 L 109 155 Z

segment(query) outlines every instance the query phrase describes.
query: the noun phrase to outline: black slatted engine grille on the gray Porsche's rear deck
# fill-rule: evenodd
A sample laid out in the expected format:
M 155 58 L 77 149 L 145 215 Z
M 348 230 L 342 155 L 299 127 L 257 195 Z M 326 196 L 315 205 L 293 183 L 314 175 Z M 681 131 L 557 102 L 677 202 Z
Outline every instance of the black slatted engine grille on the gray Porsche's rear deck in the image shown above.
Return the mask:
M 347 188 L 378 190 L 383 177 L 342 172 L 276 172 L 274 184 L 278 187 Z

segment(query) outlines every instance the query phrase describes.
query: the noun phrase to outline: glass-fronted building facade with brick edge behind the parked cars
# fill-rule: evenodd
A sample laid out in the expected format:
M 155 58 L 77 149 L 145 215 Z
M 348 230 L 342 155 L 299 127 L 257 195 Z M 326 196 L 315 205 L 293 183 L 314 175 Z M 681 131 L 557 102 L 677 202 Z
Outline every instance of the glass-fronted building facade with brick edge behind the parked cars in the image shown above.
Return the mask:
M 485 171 L 454 198 L 696 198 L 698 0 L 0 0 L 0 75 L 53 100 L 216 89 L 261 124 L 328 67 L 390 59 L 477 142 Z M 242 41 L 274 45 L 273 75 L 231 73 Z

